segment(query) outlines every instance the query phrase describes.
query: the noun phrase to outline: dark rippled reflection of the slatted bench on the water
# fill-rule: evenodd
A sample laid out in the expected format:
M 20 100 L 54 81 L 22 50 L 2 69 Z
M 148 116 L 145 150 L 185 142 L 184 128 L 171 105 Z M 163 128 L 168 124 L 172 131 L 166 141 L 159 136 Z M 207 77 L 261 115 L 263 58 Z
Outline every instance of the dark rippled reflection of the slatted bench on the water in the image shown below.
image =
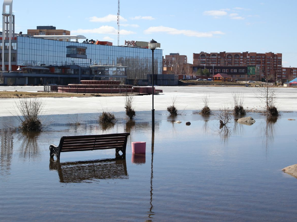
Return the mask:
M 63 162 L 49 159 L 49 170 L 58 171 L 61 183 L 91 183 L 97 179 L 129 179 L 126 159 Z

